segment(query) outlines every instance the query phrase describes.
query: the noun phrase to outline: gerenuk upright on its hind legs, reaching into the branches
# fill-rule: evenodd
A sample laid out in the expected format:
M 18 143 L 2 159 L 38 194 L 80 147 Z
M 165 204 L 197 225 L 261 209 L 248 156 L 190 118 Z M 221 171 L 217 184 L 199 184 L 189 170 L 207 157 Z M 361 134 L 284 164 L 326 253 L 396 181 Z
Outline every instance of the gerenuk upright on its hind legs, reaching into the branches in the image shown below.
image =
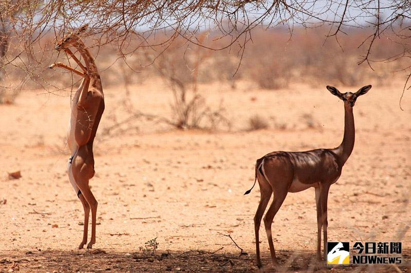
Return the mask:
M 68 131 L 68 145 L 71 157 L 68 162 L 68 177 L 76 190 L 84 208 L 84 233 L 83 241 L 79 248 L 87 243 L 88 216 L 91 208 L 91 240 L 87 248 L 96 243 L 96 214 L 97 200 L 90 191 L 88 181 L 94 176 L 93 141 L 104 111 L 104 94 L 101 86 L 100 75 L 94 59 L 78 36 L 86 30 L 87 25 L 65 36 L 55 45 L 55 49 L 64 50 L 77 62 L 81 71 L 57 62 L 49 68 L 60 67 L 83 77 L 79 89 L 74 94 L 71 104 L 71 119 Z M 71 52 L 69 47 L 76 48 L 84 59 L 85 66 Z

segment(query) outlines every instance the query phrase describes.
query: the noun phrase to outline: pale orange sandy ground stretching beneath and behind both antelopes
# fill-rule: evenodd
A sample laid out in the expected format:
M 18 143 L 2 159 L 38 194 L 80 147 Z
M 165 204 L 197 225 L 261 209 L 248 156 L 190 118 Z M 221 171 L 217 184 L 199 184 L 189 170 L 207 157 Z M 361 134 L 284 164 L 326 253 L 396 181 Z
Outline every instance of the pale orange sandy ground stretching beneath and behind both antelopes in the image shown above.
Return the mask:
M 373 87 L 354 107 L 356 144 L 330 189 L 328 240 L 401 241 L 400 269 L 410 271 L 411 96 L 405 95 L 401 111 L 401 85 Z M 136 109 L 170 116 L 172 97 L 161 82 L 130 90 Z M 3 271 L 255 271 L 258 185 L 243 196 L 254 181 L 255 160 L 277 150 L 333 148 L 343 137 L 343 103 L 325 87 L 261 91 L 244 82 L 233 91 L 220 84 L 201 86 L 210 105 L 225 106 L 231 131 L 167 130 L 136 120 L 110 134 L 104 129 L 128 114 L 121 103 L 123 88 L 105 89 L 96 176 L 90 181 L 99 202 L 94 248 L 104 251 L 77 250 L 83 208 L 66 174 L 70 98 L 67 92 L 43 92 L 25 92 L 15 104 L 0 106 Z M 267 119 L 269 129 L 246 130 L 255 114 Z M 14 171 L 22 178 L 10 180 L 7 173 Z M 231 235 L 248 255 L 238 257 L 240 250 L 220 233 Z M 319 269 L 311 262 L 316 245 L 312 188 L 287 196 L 274 219 L 273 237 L 285 269 Z M 139 247 L 154 238 L 156 256 L 143 257 Z M 264 227 L 260 240 L 267 265 Z

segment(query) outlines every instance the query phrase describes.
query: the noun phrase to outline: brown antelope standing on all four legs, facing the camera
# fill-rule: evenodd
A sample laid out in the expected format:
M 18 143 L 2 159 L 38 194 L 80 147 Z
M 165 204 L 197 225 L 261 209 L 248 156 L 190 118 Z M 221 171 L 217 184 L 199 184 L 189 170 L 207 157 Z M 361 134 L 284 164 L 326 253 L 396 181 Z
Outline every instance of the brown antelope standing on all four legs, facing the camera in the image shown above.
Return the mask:
M 287 193 L 296 193 L 309 187 L 315 189 L 315 203 L 317 208 L 317 259 L 321 260 L 321 228 L 324 228 L 324 259 L 327 255 L 327 199 L 331 184 L 341 175 L 344 163 L 354 148 L 354 116 L 352 107 L 359 96 L 370 90 L 371 86 L 364 86 L 356 93 L 340 93 L 335 87 L 327 86 L 331 94 L 344 102 L 345 126 L 343 142 L 334 149 L 316 149 L 306 152 L 272 152 L 255 163 L 255 181 L 260 186 L 261 199 L 254 217 L 255 247 L 257 266 L 261 267 L 259 250 L 259 227 L 261 218 L 274 193 L 274 199 L 264 217 L 268 243 L 270 245 L 271 260 L 274 266 L 278 265 L 272 240 L 271 224 L 275 214 L 283 204 Z M 254 181 L 254 185 L 255 185 Z M 254 187 L 253 185 L 253 187 Z M 252 188 L 253 188 L 252 187 Z M 245 194 L 249 194 L 252 190 Z

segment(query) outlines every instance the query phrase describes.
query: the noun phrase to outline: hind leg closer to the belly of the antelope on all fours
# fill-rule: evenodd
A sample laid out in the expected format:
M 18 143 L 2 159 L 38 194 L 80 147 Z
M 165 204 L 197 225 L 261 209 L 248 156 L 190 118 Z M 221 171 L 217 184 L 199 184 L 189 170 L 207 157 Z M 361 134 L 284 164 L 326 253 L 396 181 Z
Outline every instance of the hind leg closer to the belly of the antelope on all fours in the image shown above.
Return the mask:
M 273 236 L 272 236 L 272 233 L 271 233 L 271 224 L 274 220 L 274 216 L 278 212 L 278 209 L 283 204 L 284 199 L 286 199 L 286 196 L 287 196 L 287 191 L 274 192 L 274 200 L 271 203 L 270 207 L 268 208 L 266 216 L 264 216 L 264 224 L 265 224 L 265 227 L 266 227 L 268 244 L 270 245 L 271 260 L 272 260 L 272 263 L 273 263 L 274 266 L 278 265 L 278 262 L 277 262 L 277 258 L 275 257 Z

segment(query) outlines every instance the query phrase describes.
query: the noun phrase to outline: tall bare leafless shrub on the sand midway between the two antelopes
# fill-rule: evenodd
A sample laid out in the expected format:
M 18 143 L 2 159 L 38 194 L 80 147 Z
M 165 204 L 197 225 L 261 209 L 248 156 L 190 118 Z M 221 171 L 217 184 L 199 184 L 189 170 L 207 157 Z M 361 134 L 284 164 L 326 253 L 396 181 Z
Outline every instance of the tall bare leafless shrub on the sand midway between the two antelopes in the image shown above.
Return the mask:
M 205 36 L 203 36 L 205 37 Z M 199 39 L 201 43 L 201 39 Z M 184 47 L 184 43 L 174 43 L 159 56 L 146 54 L 149 62 L 157 58 L 153 66 L 157 75 L 165 80 L 173 92 L 171 103 L 172 117 L 165 118 L 167 123 L 177 129 L 230 129 L 231 123 L 225 117 L 225 108 L 222 103 L 212 109 L 206 99 L 198 93 L 198 82 L 201 79 L 210 80 L 202 76 L 202 66 L 206 66 L 210 58 L 210 51 L 201 47 Z

